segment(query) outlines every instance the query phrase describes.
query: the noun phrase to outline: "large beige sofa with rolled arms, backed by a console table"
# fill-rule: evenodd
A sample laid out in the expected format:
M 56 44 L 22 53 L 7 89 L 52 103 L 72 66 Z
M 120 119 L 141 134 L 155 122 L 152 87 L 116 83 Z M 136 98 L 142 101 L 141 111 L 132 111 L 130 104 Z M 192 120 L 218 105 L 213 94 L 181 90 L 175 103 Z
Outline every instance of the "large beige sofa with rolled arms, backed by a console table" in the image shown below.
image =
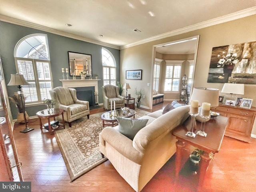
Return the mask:
M 100 133 L 100 151 L 118 173 L 139 192 L 176 152 L 172 129 L 188 117 L 189 106 L 180 106 L 166 114 L 158 110 L 147 116 L 147 125 L 130 140 L 118 126 Z

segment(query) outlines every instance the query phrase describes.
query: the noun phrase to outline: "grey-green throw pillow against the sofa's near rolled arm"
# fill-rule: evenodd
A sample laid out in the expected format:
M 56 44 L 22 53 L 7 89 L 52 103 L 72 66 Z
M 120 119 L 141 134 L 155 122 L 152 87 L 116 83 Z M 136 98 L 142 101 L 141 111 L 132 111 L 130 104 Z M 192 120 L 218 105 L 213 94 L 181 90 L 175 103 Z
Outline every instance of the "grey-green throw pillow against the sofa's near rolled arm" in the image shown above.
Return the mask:
M 144 128 L 148 122 L 148 119 L 131 119 L 125 117 L 117 117 L 118 120 L 118 131 L 124 136 L 133 140 L 139 130 Z

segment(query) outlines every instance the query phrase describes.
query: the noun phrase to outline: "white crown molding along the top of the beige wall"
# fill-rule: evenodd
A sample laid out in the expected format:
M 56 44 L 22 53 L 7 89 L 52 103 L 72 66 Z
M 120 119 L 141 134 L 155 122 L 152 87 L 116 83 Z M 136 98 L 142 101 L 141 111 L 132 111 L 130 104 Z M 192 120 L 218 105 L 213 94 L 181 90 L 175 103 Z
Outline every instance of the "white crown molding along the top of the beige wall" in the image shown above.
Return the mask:
M 221 23 L 224 23 L 224 22 L 228 22 L 228 21 L 248 17 L 248 16 L 251 16 L 251 15 L 254 15 L 254 14 L 256 14 L 256 6 L 248 8 L 248 9 L 244 9 L 244 10 L 241 10 L 241 11 L 238 11 L 238 12 L 234 12 L 234 13 L 231 13 L 231 14 L 227 14 L 227 15 L 224 15 L 224 16 L 220 16 L 220 17 L 217 17 L 217 18 L 214 18 L 214 19 L 210 19 L 210 20 L 207 20 L 207 21 L 204 21 L 204 22 L 200 22 L 200 23 L 197 23 L 197 24 L 194 24 L 194 25 L 190 25 L 190 26 L 186 26 L 186 27 L 183 27 L 183 28 L 180 28 L 180 29 L 172 30 L 170 32 L 166 32 L 166 33 L 163 33 L 163 34 L 160 34 L 160 35 L 152 36 L 150 38 L 146 38 L 146 39 L 143 39 L 143 40 L 131 43 L 131 44 L 121 46 L 120 48 L 121 49 L 129 48 L 129 47 L 132 47 L 132 46 L 144 44 L 144 43 L 159 40 L 159 39 L 162 39 L 162 38 L 166 38 L 166 37 L 170 37 L 170 36 L 174 36 L 174 35 L 179 35 L 179 34 L 182 34 L 182 33 L 186 33 L 186 32 L 190 32 L 190 31 L 206 28 L 206 27 L 209 27 L 209 26 L 212 26 L 212 25 L 217 25 L 217 24 L 221 24 Z

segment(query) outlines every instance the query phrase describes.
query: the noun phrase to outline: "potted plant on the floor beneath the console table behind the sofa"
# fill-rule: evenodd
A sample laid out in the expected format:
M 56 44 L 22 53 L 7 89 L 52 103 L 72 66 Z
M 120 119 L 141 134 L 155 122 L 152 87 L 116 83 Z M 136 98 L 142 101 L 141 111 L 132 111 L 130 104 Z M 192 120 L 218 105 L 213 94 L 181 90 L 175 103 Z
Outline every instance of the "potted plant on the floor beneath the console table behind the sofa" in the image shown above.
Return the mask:
M 189 160 L 190 160 L 190 169 L 193 171 L 192 174 L 196 174 L 197 170 L 198 170 L 198 166 L 199 166 L 199 162 L 201 159 L 201 155 L 204 154 L 203 150 L 200 150 L 198 148 L 196 148 L 192 154 L 190 154 L 189 156 Z M 214 159 L 214 154 L 210 153 L 209 157 L 213 160 Z

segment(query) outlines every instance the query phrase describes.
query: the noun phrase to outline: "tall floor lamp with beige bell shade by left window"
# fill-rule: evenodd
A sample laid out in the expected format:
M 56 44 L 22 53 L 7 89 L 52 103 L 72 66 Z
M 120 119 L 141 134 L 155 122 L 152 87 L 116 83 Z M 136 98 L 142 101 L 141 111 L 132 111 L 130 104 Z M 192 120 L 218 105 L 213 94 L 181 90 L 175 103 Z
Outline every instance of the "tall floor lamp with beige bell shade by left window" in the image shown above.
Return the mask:
M 17 86 L 19 88 L 18 93 L 20 94 L 21 106 L 23 108 L 23 115 L 24 115 L 24 120 L 25 120 L 25 124 L 26 124 L 26 128 L 24 130 L 20 131 L 20 132 L 27 133 L 29 131 L 34 130 L 34 128 L 29 128 L 27 120 L 26 120 L 25 103 L 24 103 L 25 100 L 24 100 L 24 96 L 23 96 L 23 93 L 22 93 L 22 85 L 29 85 L 29 82 L 26 81 L 24 76 L 21 75 L 21 74 L 11 74 L 11 80 L 8 83 L 8 86 Z

